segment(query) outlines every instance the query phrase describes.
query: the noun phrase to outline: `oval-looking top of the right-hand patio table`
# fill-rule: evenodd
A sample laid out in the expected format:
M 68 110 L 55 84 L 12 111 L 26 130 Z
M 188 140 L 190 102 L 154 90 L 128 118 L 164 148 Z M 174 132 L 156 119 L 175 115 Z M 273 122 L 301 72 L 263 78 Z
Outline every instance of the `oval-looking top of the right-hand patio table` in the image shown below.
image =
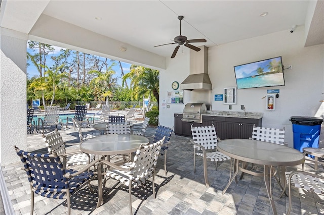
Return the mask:
M 305 156 L 284 145 L 249 139 L 227 139 L 217 143 L 220 152 L 238 160 L 267 166 L 295 166 Z

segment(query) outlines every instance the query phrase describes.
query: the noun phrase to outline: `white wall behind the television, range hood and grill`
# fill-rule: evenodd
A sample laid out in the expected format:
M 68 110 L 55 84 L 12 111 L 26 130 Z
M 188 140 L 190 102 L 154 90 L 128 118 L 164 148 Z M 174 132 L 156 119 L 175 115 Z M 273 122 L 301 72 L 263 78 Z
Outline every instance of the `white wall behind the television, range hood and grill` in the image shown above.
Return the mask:
M 222 94 L 224 87 L 236 86 L 233 67 L 264 59 L 282 56 L 285 70 L 285 86 L 240 89 L 237 90 L 237 104 L 231 111 L 241 111 L 245 105 L 247 112 L 262 112 L 262 126 L 286 129 L 286 142 L 293 147 L 291 116 L 323 116 L 323 74 L 324 45 L 304 47 L 304 28 L 300 26 L 294 33 L 282 31 L 261 37 L 236 41 L 209 48 L 209 76 L 212 82 L 210 99 L 212 110 L 229 111 L 222 101 L 214 101 L 215 94 Z M 189 74 L 189 57 L 177 55 L 168 62 L 168 69 L 160 74 L 160 98 L 171 89 L 171 83 L 181 83 Z M 179 68 L 183 68 L 180 70 Z M 185 74 L 183 74 L 185 73 Z M 275 111 L 266 110 L 266 101 L 262 99 L 267 89 L 279 89 L 279 98 L 275 100 Z M 197 92 L 203 93 L 203 92 Z M 192 94 L 192 92 L 191 92 Z M 199 96 L 194 96 L 199 97 Z M 201 96 L 200 96 L 201 97 Z M 188 101 L 186 102 L 194 102 Z M 170 109 L 161 110 L 159 121 L 163 125 L 173 126 L 174 112 L 181 112 L 184 105 L 172 104 Z

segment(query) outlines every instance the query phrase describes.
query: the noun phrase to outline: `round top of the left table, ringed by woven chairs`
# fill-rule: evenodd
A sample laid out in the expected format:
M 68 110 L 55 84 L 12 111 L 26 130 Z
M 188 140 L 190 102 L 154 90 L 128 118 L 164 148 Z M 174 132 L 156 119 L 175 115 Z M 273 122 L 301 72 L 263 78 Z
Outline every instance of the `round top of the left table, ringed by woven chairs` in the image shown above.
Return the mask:
M 146 137 L 133 134 L 108 134 L 87 139 L 80 144 L 80 150 L 90 154 L 114 155 L 135 152 L 146 145 Z

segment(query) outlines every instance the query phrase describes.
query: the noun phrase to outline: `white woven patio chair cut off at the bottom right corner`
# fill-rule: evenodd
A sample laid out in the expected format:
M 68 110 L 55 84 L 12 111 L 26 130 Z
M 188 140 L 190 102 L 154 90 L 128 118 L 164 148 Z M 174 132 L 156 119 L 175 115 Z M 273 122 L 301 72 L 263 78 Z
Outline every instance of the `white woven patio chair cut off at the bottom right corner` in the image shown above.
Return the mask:
M 302 188 L 307 191 L 313 191 L 316 194 L 324 195 L 324 176 L 309 173 L 306 171 L 285 172 L 285 175 L 289 188 L 289 208 L 287 214 L 290 214 L 292 208 L 291 186 Z M 282 195 L 284 195 L 287 184 L 285 183 L 285 188 L 282 190 L 280 198 Z M 320 199 L 321 198 L 318 198 L 318 201 L 321 201 Z

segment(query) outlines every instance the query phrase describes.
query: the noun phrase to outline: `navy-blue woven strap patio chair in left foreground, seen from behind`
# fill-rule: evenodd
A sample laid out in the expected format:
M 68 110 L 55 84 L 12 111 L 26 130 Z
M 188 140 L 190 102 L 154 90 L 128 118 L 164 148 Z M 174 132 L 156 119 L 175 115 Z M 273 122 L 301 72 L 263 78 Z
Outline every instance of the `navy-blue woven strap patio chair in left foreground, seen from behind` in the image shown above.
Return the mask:
M 94 173 L 89 169 L 100 160 L 95 160 L 79 171 L 66 170 L 55 152 L 40 154 L 23 151 L 16 146 L 14 148 L 23 163 L 23 170 L 28 176 L 31 195 L 30 214 L 34 212 L 34 193 L 47 198 L 66 199 L 67 214 L 70 214 L 71 195 L 82 185 L 87 182 L 93 193 L 90 181 L 93 179 Z M 47 206 L 44 205 L 44 207 Z

